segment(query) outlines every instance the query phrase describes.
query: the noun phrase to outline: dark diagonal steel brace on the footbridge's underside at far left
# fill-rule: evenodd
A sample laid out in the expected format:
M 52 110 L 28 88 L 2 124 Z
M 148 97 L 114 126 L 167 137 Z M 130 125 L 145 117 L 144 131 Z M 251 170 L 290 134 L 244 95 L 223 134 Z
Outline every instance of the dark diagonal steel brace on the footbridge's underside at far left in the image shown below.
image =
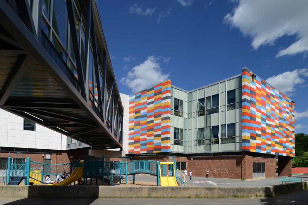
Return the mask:
M 21 80 L 23 75 L 26 73 L 33 61 L 34 58 L 32 58 L 32 56 L 30 55 L 22 56 L 22 59 L 20 59 L 17 67 L 11 75 L 9 82 L 7 82 L 6 87 L 0 95 L 0 106 L 3 106 L 7 98 L 10 97 L 10 94 L 12 93 L 18 82 Z

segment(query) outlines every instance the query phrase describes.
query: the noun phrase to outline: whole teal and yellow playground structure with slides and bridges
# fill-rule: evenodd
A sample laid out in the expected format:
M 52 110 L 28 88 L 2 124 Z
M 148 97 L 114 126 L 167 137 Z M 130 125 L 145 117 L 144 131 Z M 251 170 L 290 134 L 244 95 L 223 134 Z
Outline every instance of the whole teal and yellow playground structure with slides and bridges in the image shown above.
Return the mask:
M 16 153 L 15 158 L 17 158 Z M 21 157 L 22 158 L 22 157 Z M 33 183 L 45 183 L 43 180 L 44 175 L 58 175 L 66 172 L 70 176 L 59 183 L 50 184 L 54 186 L 60 185 L 78 185 L 88 184 L 98 185 L 98 179 L 103 180 L 109 185 L 119 185 L 112 183 L 115 177 L 118 177 L 119 183 L 127 184 L 131 180 L 135 184 L 136 174 L 149 174 L 156 176 L 157 186 L 185 186 L 182 179 L 177 177 L 176 162 L 173 156 L 168 156 L 168 162 L 159 162 L 152 160 L 132 160 L 131 157 L 123 157 L 122 162 L 110 163 L 105 162 L 104 156 L 102 158 L 87 157 L 84 155 L 83 160 L 75 160 L 74 163 L 65 164 L 44 164 L 39 162 L 30 161 L 30 157 L 26 160 L 22 158 L 20 164 L 11 162 L 10 154 L 9 160 L 6 164 L 6 171 L 3 174 L 3 181 L 5 185 L 19 185 L 24 180 L 25 185 Z M 104 183 L 102 183 L 104 185 Z

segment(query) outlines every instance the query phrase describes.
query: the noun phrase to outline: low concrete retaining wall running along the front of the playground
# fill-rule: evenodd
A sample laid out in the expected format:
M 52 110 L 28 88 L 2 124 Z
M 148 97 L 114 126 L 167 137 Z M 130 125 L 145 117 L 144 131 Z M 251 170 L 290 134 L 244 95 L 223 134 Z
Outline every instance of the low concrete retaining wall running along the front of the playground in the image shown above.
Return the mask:
M 197 197 L 272 197 L 303 190 L 307 182 L 270 187 L 154 187 L 154 186 L 0 186 L 8 198 L 197 198 Z

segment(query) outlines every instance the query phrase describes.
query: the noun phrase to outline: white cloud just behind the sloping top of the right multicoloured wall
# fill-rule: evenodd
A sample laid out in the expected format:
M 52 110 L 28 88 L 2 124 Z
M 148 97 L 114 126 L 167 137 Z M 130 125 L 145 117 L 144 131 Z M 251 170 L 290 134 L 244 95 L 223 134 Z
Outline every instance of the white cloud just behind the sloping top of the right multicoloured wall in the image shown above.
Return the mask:
M 265 81 L 270 83 L 270 85 L 274 86 L 283 94 L 290 97 L 295 94 L 296 86 L 305 82 L 302 77 L 307 76 L 308 68 L 302 68 L 274 75 L 270 78 L 267 78 Z

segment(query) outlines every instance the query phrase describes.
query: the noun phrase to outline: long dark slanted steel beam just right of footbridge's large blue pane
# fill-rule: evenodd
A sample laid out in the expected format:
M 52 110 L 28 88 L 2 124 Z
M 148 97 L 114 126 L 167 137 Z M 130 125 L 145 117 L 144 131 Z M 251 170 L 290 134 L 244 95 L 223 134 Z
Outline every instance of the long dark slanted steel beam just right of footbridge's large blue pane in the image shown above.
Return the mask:
M 85 83 L 84 83 L 84 76 L 83 76 L 83 65 L 81 63 L 81 55 L 79 51 L 79 39 L 77 35 L 76 30 L 76 22 L 75 22 L 75 12 L 74 12 L 74 4 L 72 0 L 66 0 L 66 6 L 67 6 L 67 14 L 68 14 L 68 21 L 70 23 L 70 31 L 73 41 L 73 47 L 74 47 L 74 54 L 76 59 L 76 66 L 77 66 L 77 73 L 78 73 L 78 80 L 79 80 L 79 86 L 81 90 L 81 96 L 83 99 L 87 101 L 87 95 L 85 90 Z M 80 27 L 80 29 L 82 29 Z

